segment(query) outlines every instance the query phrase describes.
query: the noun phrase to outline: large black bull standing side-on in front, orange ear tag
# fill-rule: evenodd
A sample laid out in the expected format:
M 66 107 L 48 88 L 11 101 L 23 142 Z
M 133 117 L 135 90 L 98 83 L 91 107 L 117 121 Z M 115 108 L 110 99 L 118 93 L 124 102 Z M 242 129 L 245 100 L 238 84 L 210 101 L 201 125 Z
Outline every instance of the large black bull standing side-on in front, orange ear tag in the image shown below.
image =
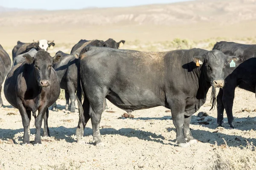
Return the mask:
M 231 59 L 236 58 L 199 48 L 169 52 L 84 48 L 78 62 L 77 139 L 91 118 L 93 141 L 102 142 L 99 123 L 106 97 L 128 112 L 156 106 L 171 109 L 177 144 L 195 143 L 189 130 L 191 116 L 205 103 L 211 86 L 214 104 L 215 87 L 224 86 L 224 68 Z

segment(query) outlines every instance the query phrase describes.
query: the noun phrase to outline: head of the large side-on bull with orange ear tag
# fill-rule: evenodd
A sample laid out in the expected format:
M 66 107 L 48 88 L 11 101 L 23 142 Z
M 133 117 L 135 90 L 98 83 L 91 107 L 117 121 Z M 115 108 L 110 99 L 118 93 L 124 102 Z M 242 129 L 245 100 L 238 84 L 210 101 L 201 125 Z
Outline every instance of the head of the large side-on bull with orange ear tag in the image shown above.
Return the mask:
M 219 50 L 208 51 L 202 56 L 194 57 L 197 66 L 202 65 L 203 73 L 207 82 L 212 85 L 212 108 L 215 107 L 216 89 L 224 86 L 224 70 L 230 67 L 230 62 L 236 62 L 239 58 L 227 56 Z M 211 108 L 211 109 L 212 109 Z

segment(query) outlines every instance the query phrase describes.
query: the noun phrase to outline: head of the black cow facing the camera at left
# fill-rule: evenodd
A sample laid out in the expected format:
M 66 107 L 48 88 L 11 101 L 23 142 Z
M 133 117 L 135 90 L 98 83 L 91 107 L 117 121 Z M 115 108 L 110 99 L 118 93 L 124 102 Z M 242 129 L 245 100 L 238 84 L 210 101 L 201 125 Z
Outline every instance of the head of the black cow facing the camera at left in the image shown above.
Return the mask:
M 25 63 L 33 65 L 32 72 L 38 83 L 38 86 L 46 88 L 50 85 L 50 74 L 53 62 L 58 62 L 60 57 L 51 57 L 50 54 L 44 50 L 39 50 L 34 57 L 29 54 L 23 55 Z

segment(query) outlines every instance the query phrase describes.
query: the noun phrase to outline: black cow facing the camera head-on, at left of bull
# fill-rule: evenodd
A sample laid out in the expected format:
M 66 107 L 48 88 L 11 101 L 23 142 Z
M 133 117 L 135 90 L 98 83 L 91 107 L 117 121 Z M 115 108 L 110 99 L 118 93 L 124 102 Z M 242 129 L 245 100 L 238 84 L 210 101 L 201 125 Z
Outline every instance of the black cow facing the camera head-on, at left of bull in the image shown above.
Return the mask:
M 52 68 L 52 57 L 46 51 L 38 51 L 34 57 L 23 55 L 23 61 L 14 65 L 6 77 L 4 94 L 7 101 L 18 108 L 24 127 L 23 144 L 29 144 L 29 123 L 32 115 L 35 117 L 35 144 L 41 144 L 41 125 L 44 119 L 44 136 L 49 136 L 48 107 L 60 94 L 58 76 Z M 36 111 L 38 115 L 36 116 Z

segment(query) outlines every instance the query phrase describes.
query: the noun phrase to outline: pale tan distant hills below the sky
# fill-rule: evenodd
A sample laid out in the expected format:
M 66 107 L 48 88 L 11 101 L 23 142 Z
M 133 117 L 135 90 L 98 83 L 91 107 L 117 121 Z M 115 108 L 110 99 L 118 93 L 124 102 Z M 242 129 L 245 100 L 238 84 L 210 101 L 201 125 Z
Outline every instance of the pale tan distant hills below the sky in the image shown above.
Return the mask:
M 198 22 L 233 24 L 244 20 L 256 20 L 255 0 L 195 0 L 182 3 L 135 6 L 125 8 L 87 8 L 65 11 L 20 11 L 0 7 L 4 13 L 0 26 L 29 25 L 31 23 L 74 25 L 177 25 Z M 3 23 L 4 22 L 4 23 Z

